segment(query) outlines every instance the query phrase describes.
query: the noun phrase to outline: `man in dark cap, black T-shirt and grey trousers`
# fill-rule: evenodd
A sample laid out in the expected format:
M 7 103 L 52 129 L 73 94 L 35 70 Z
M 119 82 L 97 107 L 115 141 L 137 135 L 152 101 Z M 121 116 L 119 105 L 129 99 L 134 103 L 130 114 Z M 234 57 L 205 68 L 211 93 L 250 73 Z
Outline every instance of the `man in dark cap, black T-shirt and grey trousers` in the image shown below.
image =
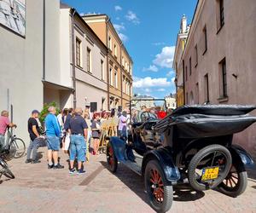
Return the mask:
M 44 141 L 44 138 L 40 137 L 39 132 L 40 128 L 38 125 L 38 116 L 39 112 L 38 110 L 33 110 L 31 118 L 27 121 L 27 130 L 30 136 L 30 144 L 27 147 L 26 151 L 26 164 L 32 163 L 32 164 L 38 164 L 40 161 L 38 160 L 38 147 L 40 147 L 40 144 Z M 32 153 L 32 159 L 31 157 Z

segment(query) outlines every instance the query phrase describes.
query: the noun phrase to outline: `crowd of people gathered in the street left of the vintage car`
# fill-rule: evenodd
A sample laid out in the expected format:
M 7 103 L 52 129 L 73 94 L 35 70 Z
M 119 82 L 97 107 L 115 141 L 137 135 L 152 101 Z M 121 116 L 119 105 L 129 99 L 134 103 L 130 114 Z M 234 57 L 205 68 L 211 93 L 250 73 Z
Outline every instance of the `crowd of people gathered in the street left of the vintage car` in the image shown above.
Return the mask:
M 48 147 L 48 169 L 63 169 L 60 163 L 59 152 L 62 149 L 69 155 L 69 173 L 83 174 L 83 163 L 86 161 L 86 149 L 92 155 L 99 154 L 102 124 L 108 118 L 118 120 L 117 133 L 119 137 L 127 139 L 129 124 L 140 122 L 143 112 L 154 113 L 157 117 L 166 116 L 156 108 L 147 109 L 143 106 L 140 111 L 135 108 L 122 112 L 90 112 L 90 107 L 65 108 L 56 115 L 56 108 L 49 107 L 44 119 L 44 128 L 39 121 L 38 110 L 33 110 L 27 121 L 27 130 L 30 143 L 26 152 L 26 164 L 38 164 L 38 147 Z M 5 133 L 7 128 L 16 127 L 9 121 L 9 112 L 3 111 L 0 116 L 0 145 L 5 146 Z M 88 146 L 87 146 L 88 145 Z M 31 156 L 32 155 L 32 156 Z

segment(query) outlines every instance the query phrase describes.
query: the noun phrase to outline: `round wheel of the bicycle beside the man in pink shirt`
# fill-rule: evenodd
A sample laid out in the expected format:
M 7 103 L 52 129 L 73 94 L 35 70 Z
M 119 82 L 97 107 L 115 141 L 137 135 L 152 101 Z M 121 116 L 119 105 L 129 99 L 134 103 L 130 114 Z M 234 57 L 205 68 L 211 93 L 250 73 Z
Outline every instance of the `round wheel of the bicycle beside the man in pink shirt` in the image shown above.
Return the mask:
M 9 154 L 12 158 L 21 158 L 26 152 L 26 145 L 20 138 L 15 138 L 9 143 Z

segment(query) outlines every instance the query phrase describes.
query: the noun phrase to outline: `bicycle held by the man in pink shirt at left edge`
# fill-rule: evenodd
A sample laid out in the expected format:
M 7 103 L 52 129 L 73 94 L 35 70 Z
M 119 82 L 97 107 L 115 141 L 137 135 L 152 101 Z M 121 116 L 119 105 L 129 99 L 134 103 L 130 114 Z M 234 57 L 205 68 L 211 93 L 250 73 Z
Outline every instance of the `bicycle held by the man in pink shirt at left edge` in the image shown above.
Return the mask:
M 22 139 L 16 137 L 13 131 L 8 129 L 8 142 L 3 147 L 3 156 L 6 158 L 21 158 L 26 152 L 26 145 Z

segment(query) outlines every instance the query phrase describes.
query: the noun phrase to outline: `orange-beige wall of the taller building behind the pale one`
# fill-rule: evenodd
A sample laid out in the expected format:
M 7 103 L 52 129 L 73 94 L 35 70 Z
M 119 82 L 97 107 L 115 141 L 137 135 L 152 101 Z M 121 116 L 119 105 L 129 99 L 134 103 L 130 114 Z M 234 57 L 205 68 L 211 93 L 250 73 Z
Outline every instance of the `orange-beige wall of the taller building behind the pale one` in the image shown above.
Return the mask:
M 83 19 L 108 47 L 109 108 L 126 108 L 132 93 L 132 60 L 107 15 L 85 15 Z M 106 30 L 106 32 L 105 32 Z M 104 35 L 102 35 L 104 33 Z M 122 65 L 122 58 L 126 61 Z M 131 68 L 129 68 L 131 67 Z M 116 76 L 115 76 L 116 73 Z M 124 83 L 125 81 L 125 83 Z M 129 89 L 127 82 L 129 82 Z M 129 91 L 129 92 L 128 92 Z

